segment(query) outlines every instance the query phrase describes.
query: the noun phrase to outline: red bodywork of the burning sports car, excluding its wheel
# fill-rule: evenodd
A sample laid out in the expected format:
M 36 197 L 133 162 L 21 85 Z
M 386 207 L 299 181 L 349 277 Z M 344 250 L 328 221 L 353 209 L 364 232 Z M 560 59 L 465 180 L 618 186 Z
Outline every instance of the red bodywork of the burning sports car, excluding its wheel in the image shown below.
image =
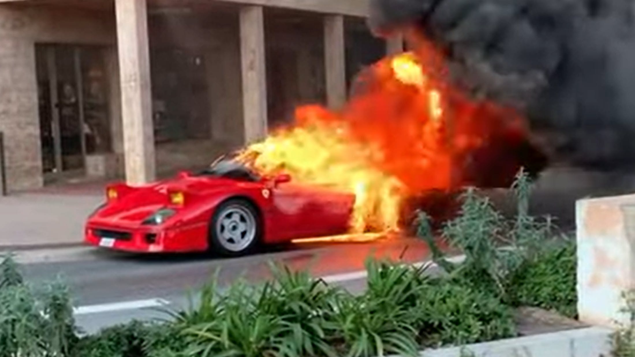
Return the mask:
M 354 195 L 295 185 L 288 176 L 253 180 L 189 173 L 144 186 L 107 187 L 107 202 L 86 222 L 85 242 L 130 252 L 209 250 L 211 222 L 219 205 L 241 200 L 258 215 L 258 243 L 345 233 Z M 144 223 L 161 209 L 173 215 Z

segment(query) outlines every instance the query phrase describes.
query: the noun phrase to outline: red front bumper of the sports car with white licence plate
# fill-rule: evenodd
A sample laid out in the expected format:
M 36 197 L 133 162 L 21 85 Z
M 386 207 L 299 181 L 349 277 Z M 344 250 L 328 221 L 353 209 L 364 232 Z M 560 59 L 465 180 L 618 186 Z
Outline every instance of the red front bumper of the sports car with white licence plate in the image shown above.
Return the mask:
M 207 225 L 163 228 L 88 221 L 84 242 L 128 252 L 198 252 L 208 248 Z

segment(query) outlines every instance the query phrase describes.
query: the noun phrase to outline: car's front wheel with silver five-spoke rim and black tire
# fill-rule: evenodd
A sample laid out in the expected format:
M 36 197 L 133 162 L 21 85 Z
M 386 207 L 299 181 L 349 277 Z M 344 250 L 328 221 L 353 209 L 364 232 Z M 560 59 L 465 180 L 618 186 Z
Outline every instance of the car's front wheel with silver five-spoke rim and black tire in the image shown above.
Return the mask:
M 253 252 L 262 235 L 260 215 L 246 200 L 232 198 L 218 205 L 210 221 L 210 249 L 223 256 Z

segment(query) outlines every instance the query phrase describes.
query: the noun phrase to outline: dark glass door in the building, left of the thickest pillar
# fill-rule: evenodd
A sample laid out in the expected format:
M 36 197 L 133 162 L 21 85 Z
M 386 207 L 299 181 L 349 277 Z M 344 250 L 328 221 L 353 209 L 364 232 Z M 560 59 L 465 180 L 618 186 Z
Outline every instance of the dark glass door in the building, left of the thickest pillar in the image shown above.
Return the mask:
M 45 179 L 81 176 L 88 153 L 110 151 L 103 58 L 100 48 L 36 45 Z

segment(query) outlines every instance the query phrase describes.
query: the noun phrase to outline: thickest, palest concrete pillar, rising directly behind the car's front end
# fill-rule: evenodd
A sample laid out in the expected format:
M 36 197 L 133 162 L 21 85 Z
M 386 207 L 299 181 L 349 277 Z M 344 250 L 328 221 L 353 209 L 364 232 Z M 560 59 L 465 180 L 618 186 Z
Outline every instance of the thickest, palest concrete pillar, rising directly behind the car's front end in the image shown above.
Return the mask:
M 154 180 L 154 128 L 146 0 L 115 0 L 126 181 Z

